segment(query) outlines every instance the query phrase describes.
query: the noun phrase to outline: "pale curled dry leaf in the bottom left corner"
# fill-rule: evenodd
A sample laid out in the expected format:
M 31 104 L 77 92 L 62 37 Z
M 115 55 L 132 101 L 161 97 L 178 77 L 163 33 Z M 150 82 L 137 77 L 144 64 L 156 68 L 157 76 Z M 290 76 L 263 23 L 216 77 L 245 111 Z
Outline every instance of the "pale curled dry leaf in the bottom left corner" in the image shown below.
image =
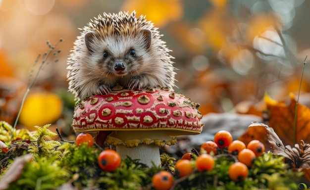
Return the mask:
M 9 187 L 9 184 L 18 180 L 23 172 L 24 166 L 27 162 L 31 161 L 33 156 L 26 154 L 14 159 L 14 162 L 5 172 L 4 176 L 0 181 L 0 190 L 5 190 Z

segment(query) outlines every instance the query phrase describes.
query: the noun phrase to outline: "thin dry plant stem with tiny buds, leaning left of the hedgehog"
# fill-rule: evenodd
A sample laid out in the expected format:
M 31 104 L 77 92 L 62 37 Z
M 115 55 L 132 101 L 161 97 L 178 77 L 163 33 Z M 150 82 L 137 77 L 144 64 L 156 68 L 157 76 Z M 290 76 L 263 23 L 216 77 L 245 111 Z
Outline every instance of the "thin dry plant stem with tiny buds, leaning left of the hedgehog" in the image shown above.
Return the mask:
M 62 42 L 62 39 L 60 39 L 59 42 Z M 23 108 L 23 106 L 24 106 L 26 97 L 27 97 L 27 95 L 28 95 L 30 89 L 32 88 L 32 86 L 33 86 L 34 83 L 36 82 L 36 79 L 38 78 L 38 75 L 39 75 L 39 73 L 40 73 L 40 71 L 41 71 L 41 69 L 42 69 L 42 66 L 44 65 L 44 63 L 46 63 L 46 61 L 47 61 L 48 58 L 49 58 L 49 55 L 52 53 L 52 51 L 54 50 L 54 48 L 57 46 L 57 43 L 55 43 L 54 46 L 51 46 L 51 44 L 50 44 L 49 42 L 48 42 L 47 44 L 48 44 L 50 50 L 49 50 L 48 52 L 45 52 L 45 53 L 44 53 L 44 55 L 43 55 L 43 60 L 42 60 L 42 62 L 41 62 L 41 65 L 40 65 L 40 67 L 38 68 L 38 71 L 37 71 L 37 73 L 36 73 L 34 79 L 32 80 L 32 82 L 30 83 L 30 80 L 28 81 L 28 88 L 27 88 L 27 90 L 26 90 L 26 92 L 25 92 L 25 95 L 24 95 L 24 97 L 23 97 L 23 99 L 22 99 L 22 102 L 21 102 L 21 105 L 20 105 L 20 108 L 19 108 L 19 111 L 18 111 L 16 120 L 15 120 L 15 122 L 14 122 L 13 131 L 12 131 L 12 135 L 11 135 L 10 141 L 12 141 L 13 134 L 14 134 L 13 132 L 14 132 L 14 130 L 15 130 L 15 128 L 16 128 L 17 121 L 18 121 L 18 119 L 19 119 L 21 110 L 22 110 L 22 108 Z M 57 52 L 60 52 L 60 51 L 58 50 Z M 41 55 L 41 54 L 38 55 L 38 57 L 37 57 L 37 59 L 36 59 L 36 61 L 35 61 L 35 65 L 36 65 L 36 63 L 39 61 L 40 55 Z M 57 55 L 57 54 L 53 54 L 53 56 L 56 56 L 56 55 Z M 34 65 L 34 66 L 35 66 L 35 65 Z M 31 73 L 30 73 L 29 79 L 31 78 L 32 73 L 33 73 L 33 70 L 32 70 Z

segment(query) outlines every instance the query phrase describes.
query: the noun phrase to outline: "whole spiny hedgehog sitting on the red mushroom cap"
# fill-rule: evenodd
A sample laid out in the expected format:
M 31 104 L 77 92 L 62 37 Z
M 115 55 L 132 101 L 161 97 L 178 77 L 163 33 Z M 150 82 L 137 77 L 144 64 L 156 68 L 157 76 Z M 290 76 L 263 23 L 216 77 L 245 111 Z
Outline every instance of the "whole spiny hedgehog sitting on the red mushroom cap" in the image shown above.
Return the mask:
M 67 67 L 69 91 L 76 100 L 108 94 L 116 85 L 173 91 L 174 57 L 145 16 L 103 13 L 80 30 Z

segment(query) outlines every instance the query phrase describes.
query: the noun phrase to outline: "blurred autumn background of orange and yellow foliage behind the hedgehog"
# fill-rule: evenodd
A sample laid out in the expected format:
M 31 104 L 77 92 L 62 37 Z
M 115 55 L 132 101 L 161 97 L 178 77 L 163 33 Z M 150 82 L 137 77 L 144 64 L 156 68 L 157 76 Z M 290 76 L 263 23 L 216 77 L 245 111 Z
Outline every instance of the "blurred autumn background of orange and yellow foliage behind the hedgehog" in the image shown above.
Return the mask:
M 159 28 L 175 57 L 175 91 L 199 102 L 203 114 L 261 116 L 265 93 L 283 100 L 298 92 L 310 53 L 308 7 L 305 0 L 0 0 L 0 120 L 13 125 L 44 60 L 18 126 L 52 123 L 70 134 L 74 97 L 66 59 L 78 28 L 120 10 L 147 15 Z M 306 105 L 309 72 L 306 64 Z

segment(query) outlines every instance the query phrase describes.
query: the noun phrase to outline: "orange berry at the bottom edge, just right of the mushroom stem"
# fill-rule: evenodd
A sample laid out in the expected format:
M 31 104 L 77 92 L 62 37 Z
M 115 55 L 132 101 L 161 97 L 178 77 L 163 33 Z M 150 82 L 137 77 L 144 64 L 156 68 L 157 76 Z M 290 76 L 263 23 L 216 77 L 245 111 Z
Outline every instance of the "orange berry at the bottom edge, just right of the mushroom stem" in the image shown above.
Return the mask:
M 173 184 L 173 176 L 170 172 L 160 171 L 152 178 L 152 185 L 155 190 L 169 190 Z

